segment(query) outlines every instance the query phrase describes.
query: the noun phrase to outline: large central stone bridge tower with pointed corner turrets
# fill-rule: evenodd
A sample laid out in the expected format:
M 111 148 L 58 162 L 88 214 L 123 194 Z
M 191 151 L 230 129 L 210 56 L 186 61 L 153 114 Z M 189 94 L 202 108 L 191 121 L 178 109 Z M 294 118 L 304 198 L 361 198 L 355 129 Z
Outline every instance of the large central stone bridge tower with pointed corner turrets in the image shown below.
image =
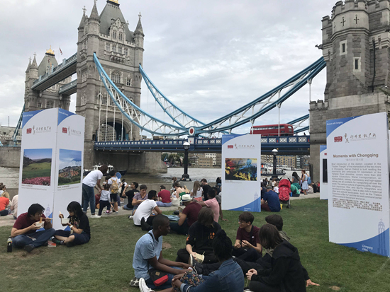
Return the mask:
M 103 162 L 94 157 L 94 141 L 140 138 L 139 129 L 126 119 L 122 121 L 121 112 L 107 94 L 94 64 L 94 53 L 116 86 L 140 106 L 138 65 L 143 64 L 144 34 L 140 14 L 134 32 L 129 30 L 118 0 L 107 0 L 100 16 L 96 1 L 89 17 L 85 11 L 78 28 L 76 113 L 86 118 L 84 165 L 91 168 Z

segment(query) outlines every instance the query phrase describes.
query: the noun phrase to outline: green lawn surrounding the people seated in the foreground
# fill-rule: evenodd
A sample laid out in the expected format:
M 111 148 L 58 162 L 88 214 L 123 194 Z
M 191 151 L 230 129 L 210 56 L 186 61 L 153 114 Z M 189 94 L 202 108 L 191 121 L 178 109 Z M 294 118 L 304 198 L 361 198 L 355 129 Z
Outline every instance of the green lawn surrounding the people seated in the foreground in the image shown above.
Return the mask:
M 298 247 L 301 262 L 311 280 L 320 284 L 308 291 L 389 291 L 390 262 L 386 257 L 328 242 L 328 202 L 304 199 L 283 209 L 284 230 Z M 169 212 L 170 213 L 170 212 Z M 234 241 L 240 211 L 224 211 L 229 222 L 220 221 Z M 255 214 L 256 226 L 269 213 Z M 10 227 L 0 228 L 1 291 L 138 291 L 128 286 L 133 278 L 133 252 L 144 234 L 127 216 L 91 219 L 90 243 L 79 247 L 40 247 L 27 254 L 6 253 Z M 174 260 L 184 247 L 183 235 L 164 238 L 164 257 Z

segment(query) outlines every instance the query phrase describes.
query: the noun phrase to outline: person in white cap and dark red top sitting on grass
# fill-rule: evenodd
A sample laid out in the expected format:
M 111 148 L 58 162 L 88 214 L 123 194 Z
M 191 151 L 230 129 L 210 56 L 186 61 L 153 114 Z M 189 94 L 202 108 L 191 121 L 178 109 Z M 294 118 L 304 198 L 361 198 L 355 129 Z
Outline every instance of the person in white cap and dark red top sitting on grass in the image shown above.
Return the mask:
M 182 213 L 179 214 L 179 221 L 171 222 L 169 223 L 169 226 L 171 227 L 171 230 L 176 233 L 187 235 L 189 226 L 198 220 L 198 214 L 199 211 L 201 211 L 202 206 L 196 203 L 195 200 L 191 199 L 189 194 L 183 195 L 182 202 L 185 208 Z

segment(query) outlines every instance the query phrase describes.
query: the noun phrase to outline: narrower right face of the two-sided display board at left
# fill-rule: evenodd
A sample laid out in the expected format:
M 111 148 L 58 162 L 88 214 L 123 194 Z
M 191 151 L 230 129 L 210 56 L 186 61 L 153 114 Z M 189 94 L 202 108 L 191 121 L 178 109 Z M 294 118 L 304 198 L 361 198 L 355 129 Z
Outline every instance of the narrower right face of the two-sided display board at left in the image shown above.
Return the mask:
M 58 217 L 59 211 L 66 218 L 69 216 L 67 205 L 70 202 L 82 203 L 84 124 L 84 117 L 58 109 L 53 224 L 55 229 L 64 228 Z

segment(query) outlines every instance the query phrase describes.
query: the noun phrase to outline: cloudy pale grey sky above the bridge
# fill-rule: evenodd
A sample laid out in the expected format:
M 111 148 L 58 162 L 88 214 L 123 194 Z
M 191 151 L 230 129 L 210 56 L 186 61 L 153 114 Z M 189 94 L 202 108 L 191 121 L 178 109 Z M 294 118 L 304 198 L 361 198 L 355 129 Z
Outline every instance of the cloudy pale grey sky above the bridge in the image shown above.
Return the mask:
M 321 19 L 334 1 L 323 0 L 119 0 L 130 30 L 142 13 L 143 68 L 176 105 L 202 122 L 260 97 L 322 56 Z M 82 8 L 92 0 L 0 1 L 0 123 L 15 127 L 24 99 L 28 58 L 38 64 L 50 45 L 57 61 L 77 51 Z M 99 13 L 106 1 L 97 1 Z M 62 55 L 59 52 L 62 50 Z M 75 78 L 75 77 L 74 77 Z M 311 100 L 322 100 L 325 69 L 311 86 Z M 141 107 L 155 113 L 142 83 Z M 75 110 L 76 94 L 70 111 Z M 281 108 L 281 122 L 308 114 L 308 86 Z M 277 124 L 274 109 L 255 124 Z M 306 123 L 307 125 L 307 123 Z M 248 132 L 246 125 L 237 133 Z M 145 134 L 145 132 L 144 132 Z

